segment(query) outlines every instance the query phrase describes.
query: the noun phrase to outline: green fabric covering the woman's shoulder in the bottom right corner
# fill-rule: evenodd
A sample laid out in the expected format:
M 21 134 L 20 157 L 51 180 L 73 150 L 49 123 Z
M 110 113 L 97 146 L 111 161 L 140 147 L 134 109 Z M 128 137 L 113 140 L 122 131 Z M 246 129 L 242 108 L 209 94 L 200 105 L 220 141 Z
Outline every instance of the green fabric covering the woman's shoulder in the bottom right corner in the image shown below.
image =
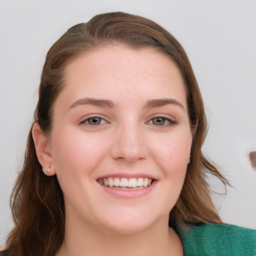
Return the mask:
M 256 230 L 229 224 L 201 224 L 180 231 L 185 256 L 255 256 Z

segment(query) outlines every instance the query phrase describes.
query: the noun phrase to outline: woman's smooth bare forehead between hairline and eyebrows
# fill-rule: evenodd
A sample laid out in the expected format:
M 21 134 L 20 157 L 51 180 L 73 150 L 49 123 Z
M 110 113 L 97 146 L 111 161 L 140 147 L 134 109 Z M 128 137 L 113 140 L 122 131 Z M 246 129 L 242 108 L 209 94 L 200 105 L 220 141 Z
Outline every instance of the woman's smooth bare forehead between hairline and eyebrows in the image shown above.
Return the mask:
M 66 66 L 63 93 L 117 101 L 171 96 L 186 105 L 185 87 L 175 63 L 151 47 L 109 45 L 79 55 Z

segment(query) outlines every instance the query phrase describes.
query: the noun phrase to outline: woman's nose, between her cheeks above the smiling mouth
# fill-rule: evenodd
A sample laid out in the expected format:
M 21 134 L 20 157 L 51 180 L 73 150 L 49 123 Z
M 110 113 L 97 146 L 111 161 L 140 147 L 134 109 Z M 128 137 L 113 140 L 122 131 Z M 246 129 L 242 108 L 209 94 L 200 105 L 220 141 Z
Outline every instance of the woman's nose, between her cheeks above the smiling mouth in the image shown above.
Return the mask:
M 148 156 L 145 140 L 145 134 L 139 128 L 120 127 L 111 146 L 111 157 L 114 159 L 122 158 L 129 162 L 145 159 Z

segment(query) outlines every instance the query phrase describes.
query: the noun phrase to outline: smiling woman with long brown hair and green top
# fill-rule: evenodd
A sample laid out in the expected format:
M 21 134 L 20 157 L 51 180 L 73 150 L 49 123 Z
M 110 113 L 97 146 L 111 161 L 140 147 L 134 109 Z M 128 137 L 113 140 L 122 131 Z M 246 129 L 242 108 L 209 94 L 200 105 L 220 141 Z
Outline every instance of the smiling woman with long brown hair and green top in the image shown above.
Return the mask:
M 205 133 L 165 29 L 121 12 L 71 27 L 46 56 L 2 255 L 254 255 L 255 232 L 211 202 L 205 174 L 227 181 Z

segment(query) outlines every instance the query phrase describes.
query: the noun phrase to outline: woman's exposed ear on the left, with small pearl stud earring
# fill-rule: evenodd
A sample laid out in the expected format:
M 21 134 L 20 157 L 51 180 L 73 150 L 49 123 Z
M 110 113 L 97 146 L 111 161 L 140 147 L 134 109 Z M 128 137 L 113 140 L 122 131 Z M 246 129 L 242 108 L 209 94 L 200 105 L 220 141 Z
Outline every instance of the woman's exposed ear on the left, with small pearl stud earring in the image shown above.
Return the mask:
M 48 176 L 54 175 L 55 169 L 52 164 L 52 156 L 48 143 L 48 136 L 41 130 L 38 122 L 34 122 L 32 126 L 32 137 L 37 159 L 42 166 L 43 172 Z

